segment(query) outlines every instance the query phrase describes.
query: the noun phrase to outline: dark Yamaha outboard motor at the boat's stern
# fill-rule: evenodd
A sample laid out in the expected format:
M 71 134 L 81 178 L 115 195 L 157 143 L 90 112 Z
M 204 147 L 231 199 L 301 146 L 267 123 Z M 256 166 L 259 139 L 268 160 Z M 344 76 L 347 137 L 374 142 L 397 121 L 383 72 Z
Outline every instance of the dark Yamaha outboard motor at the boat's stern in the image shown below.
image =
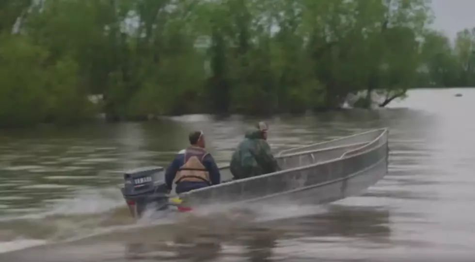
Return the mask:
M 168 190 L 163 181 L 163 171 L 161 166 L 151 166 L 124 174 L 125 184 L 121 191 L 134 218 L 141 217 L 148 206 L 155 206 L 160 211 L 168 208 Z

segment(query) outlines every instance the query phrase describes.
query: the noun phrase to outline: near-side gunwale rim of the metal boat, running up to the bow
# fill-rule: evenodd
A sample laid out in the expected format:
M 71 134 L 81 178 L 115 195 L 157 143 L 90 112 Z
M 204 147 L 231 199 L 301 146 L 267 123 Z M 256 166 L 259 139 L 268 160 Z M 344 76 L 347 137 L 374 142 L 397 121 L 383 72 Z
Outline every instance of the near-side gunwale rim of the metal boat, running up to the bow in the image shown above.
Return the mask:
M 373 140 L 369 141 L 367 143 L 367 145 L 364 145 L 362 147 L 358 147 L 356 149 L 353 149 L 353 150 L 350 150 L 348 152 L 354 152 L 354 151 L 357 151 L 363 147 L 366 147 L 368 145 L 371 145 L 375 142 L 377 142 L 378 140 L 380 140 L 380 138 L 388 133 L 388 128 L 381 128 L 381 129 L 375 129 L 375 130 L 372 130 L 372 131 L 367 131 L 367 132 L 364 132 L 364 133 L 369 133 L 369 132 L 375 132 L 375 131 L 381 131 L 381 133 Z M 354 137 L 354 136 L 357 136 L 357 135 L 361 135 L 361 134 L 364 134 L 364 133 L 360 133 L 360 134 L 355 134 L 355 135 L 351 135 L 351 136 L 347 136 L 347 137 L 343 137 L 343 138 L 348 138 L 348 137 Z M 343 139 L 342 138 L 342 139 Z M 341 139 L 340 139 L 341 140 Z M 324 143 L 324 142 L 323 142 Z M 319 144 L 319 143 L 317 143 Z M 294 167 L 294 168 L 290 168 L 290 169 L 285 169 L 285 170 L 280 170 L 280 171 L 277 171 L 277 172 L 272 172 L 272 173 L 269 173 L 269 174 L 264 174 L 264 175 L 259 175 L 259 176 L 255 176 L 255 177 L 250 177 L 250 178 L 244 178 L 244 179 L 239 179 L 239 180 L 231 180 L 231 181 L 228 181 L 226 183 L 221 183 L 221 184 L 217 184 L 217 185 L 211 185 L 211 186 L 207 186 L 207 187 L 203 187 L 203 188 L 199 188 L 199 189 L 195 189 L 195 190 L 192 190 L 192 191 L 189 191 L 189 192 L 186 192 L 186 193 L 183 193 L 183 194 L 180 194 L 179 196 L 187 196 L 187 195 L 190 195 L 191 193 L 195 193 L 195 192 L 200 192 L 200 191 L 205 191 L 205 190 L 208 190 L 209 188 L 219 188 L 219 187 L 222 187 L 222 186 L 228 186 L 230 184 L 234 184 L 234 183 L 241 183 L 241 182 L 244 182 L 244 181 L 252 181 L 252 180 L 256 180 L 256 179 L 261 179 L 261 178 L 267 178 L 267 177 L 270 177 L 270 176 L 274 176 L 274 175 L 280 175 L 280 174 L 285 174 L 285 173 L 288 173 L 288 172 L 293 172 L 293 171 L 301 171 L 301 170 L 305 170 L 305 169 L 308 169 L 308 168 L 313 168 L 313 167 L 316 167 L 318 165 L 323 165 L 323 164 L 330 164 L 330 163 L 334 163 L 334 162 L 337 162 L 337 161 L 342 161 L 342 160 L 345 160 L 345 159 L 349 159 L 349 158 L 353 158 L 353 157 L 357 157 L 357 156 L 360 156 L 360 155 L 363 155 L 365 153 L 368 153 L 370 151 L 373 151 L 373 150 L 376 150 L 376 149 L 379 149 L 380 147 L 386 145 L 387 143 L 384 143 L 382 145 L 379 145 L 377 147 L 369 147 L 367 150 L 364 150 L 364 151 L 361 151 L 357 154 L 353 154 L 353 155 L 349 155 L 349 156 L 345 156 L 345 153 L 339 157 L 339 158 L 334 158 L 334 159 L 330 159 L 330 160 L 327 160 L 327 161 L 322 161 L 322 162 L 319 162 L 319 163 L 315 163 L 315 164 L 308 164 L 308 165 L 303 165 L 303 166 L 298 166 L 298 167 Z M 316 145 L 316 144 L 315 144 Z M 387 157 L 387 155 L 386 155 Z

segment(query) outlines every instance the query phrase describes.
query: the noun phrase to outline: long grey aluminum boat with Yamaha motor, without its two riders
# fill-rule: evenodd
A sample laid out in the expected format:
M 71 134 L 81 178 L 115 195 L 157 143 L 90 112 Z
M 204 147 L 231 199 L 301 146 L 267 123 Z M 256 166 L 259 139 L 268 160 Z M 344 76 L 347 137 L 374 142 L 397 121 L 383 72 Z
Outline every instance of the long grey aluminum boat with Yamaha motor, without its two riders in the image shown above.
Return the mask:
M 282 170 L 274 173 L 232 180 L 229 165 L 222 166 L 224 182 L 179 196 L 167 195 L 160 166 L 126 172 L 121 191 L 135 218 L 147 209 L 167 213 L 262 201 L 323 204 L 361 194 L 383 178 L 388 152 L 388 130 L 383 128 L 283 150 L 276 156 Z

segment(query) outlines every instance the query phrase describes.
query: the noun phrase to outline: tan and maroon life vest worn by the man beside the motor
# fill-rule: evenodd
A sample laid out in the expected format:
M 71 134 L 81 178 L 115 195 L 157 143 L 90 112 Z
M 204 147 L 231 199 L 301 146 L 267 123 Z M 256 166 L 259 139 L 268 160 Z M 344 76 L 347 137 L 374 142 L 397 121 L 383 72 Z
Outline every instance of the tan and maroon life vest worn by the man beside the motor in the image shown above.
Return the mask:
M 203 159 L 208 154 L 201 147 L 188 147 L 185 150 L 184 164 L 176 172 L 174 182 L 182 181 L 207 182 L 209 183 L 209 172 L 203 165 Z

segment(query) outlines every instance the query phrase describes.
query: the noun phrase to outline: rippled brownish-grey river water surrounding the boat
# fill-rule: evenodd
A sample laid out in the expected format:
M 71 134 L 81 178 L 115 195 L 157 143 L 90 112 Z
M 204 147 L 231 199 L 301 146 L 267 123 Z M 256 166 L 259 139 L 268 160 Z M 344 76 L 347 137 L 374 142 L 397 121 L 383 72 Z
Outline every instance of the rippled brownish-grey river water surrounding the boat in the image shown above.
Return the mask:
M 454 94 L 462 93 L 463 97 Z M 0 262 L 396 261 L 473 256 L 475 89 L 413 90 L 376 111 L 266 119 L 276 151 L 390 129 L 387 176 L 323 206 L 262 205 L 258 219 L 133 222 L 121 172 L 164 165 L 203 130 L 227 164 L 256 119 L 174 117 L 0 132 Z M 465 115 L 465 116 L 463 116 Z

